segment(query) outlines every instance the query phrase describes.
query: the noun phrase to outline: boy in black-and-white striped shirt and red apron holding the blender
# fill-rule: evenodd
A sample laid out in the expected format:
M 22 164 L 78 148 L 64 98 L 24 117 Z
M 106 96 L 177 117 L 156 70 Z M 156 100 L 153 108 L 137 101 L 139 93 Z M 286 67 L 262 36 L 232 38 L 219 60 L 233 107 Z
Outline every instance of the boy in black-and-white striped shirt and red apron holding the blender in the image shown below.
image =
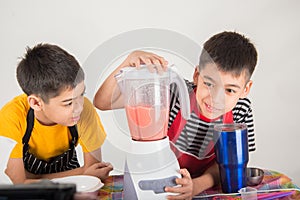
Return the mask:
M 254 45 L 236 32 L 218 33 L 204 43 L 193 82 L 186 81 L 190 94 L 191 116 L 181 117 L 181 105 L 176 85 L 170 87 L 168 136 L 177 155 L 182 187 L 166 187 L 166 192 L 179 193 L 168 199 L 190 199 L 219 183 L 218 166 L 212 142 L 217 123 L 246 123 L 249 150 L 255 150 L 253 115 L 250 100 L 251 75 L 257 63 Z M 122 107 L 120 95 L 113 95 L 116 86 L 113 76 L 123 67 L 140 64 L 156 66 L 163 71 L 168 62 L 153 53 L 135 51 L 105 80 L 96 93 L 94 104 L 106 110 Z

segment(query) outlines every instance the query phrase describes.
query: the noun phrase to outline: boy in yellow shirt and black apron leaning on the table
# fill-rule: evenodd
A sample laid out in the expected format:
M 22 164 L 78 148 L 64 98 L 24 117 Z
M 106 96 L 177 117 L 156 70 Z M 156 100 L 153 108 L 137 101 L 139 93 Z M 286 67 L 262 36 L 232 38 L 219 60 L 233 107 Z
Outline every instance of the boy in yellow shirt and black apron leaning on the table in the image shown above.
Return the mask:
M 6 174 L 13 183 L 68 175 L 105 179 L 112 166 L 102 162 L 106 133 L 93 104 L 84 97 L 84 72 L 77 60 L 56 45 L 28 48 L 17 67 L 25 94 L 0 111 L 0 135 L 17 142 Z M 80 144 L 80 167 L 75 146 Z

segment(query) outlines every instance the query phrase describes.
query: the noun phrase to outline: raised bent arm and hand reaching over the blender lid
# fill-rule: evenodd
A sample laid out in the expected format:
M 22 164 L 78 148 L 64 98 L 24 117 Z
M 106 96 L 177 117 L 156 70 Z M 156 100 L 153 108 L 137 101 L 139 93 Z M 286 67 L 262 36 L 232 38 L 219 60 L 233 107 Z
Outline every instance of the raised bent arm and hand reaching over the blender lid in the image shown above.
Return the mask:
M 123 67 L 132 66 L 139 68 L 141 64 L 161 66 L 160 69 L 157 69 L 160 71 L 166 68 L 168 63 L 163 57 L 153 53 L 144 51 L 134 51 L 130 53 L 121 65 L 119 65 L 100 86 L 94 97 L 94 105 L 100 110 L 111 110 L 124 107 L 122 95 L 117 87 L 117 81 L 114 76 Z

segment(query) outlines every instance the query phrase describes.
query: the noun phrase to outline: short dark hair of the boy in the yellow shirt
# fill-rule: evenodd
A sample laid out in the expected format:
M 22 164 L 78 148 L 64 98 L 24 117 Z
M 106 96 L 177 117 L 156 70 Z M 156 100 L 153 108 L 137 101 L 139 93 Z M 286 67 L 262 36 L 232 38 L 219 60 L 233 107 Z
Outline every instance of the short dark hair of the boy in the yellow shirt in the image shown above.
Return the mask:
M 35 94 L 48 103 L 67 88 L 75 88 L 84 80 L 77 60 L 57 45 L 38 44 L 27 48 L 17 66 L 17 80 L 27 94 Z

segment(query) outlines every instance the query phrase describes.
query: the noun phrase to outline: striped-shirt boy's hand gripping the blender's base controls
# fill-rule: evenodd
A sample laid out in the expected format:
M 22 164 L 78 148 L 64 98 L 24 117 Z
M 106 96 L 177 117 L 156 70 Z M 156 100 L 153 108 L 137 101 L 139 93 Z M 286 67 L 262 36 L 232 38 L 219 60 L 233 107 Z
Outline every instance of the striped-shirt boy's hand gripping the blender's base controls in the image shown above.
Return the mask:
M 187 169 L 180 169 L 182 178 L 177 178 L 176 183 L 181 187 L 166 187 L 166 192 L 179 193 L 178 195 L 169 195 L 168 199 L 192 199 L 193 181 Z

